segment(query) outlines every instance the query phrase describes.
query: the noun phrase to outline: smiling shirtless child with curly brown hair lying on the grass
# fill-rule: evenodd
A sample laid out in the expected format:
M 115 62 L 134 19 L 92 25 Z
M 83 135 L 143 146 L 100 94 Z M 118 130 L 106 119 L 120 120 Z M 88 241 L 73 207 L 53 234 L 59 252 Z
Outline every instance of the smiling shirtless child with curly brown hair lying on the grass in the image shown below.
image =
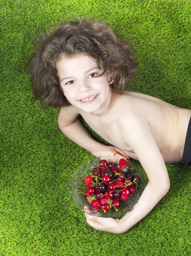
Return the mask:
M 107 24 L 89 20 L 58 26 L 29 62 L 36 99 L 62 107 L 58 125 L 69 139 L 96 157 L 139 160 L 148 175 L 139 202 L 122 219 L 85 213 L 90 226 L 110 233 L 126 232 L 165 196 L 165 163 L 191 162 L 191 110 L 124 91 L 136 67 L 127 44 Z M 93 140 L 79 115 L 113 146 Z

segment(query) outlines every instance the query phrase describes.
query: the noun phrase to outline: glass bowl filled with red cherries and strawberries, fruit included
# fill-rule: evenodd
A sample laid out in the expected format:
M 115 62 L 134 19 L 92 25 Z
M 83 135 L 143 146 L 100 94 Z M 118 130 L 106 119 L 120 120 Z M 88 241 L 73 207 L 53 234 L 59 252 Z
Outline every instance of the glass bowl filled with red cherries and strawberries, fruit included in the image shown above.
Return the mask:
M 81 210 L 110 218 L 131 211 L 143 190 L 137 166 L 115 154 L 81 164 L 69 181 L 69 192 Z

